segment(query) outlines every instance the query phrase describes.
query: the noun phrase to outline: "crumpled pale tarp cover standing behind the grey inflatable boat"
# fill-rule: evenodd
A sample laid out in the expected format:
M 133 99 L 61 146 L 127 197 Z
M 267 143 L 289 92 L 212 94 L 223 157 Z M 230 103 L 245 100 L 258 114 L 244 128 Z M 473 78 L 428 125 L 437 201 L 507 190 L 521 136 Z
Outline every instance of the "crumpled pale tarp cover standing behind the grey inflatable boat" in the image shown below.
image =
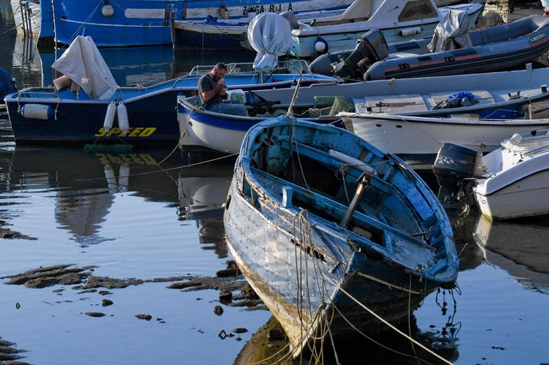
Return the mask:
M 448 10 L 434 29 L 434 35 L 427 46 L 431 52 L 450 51 L 471 47 L 469 16 L 465 10 Z

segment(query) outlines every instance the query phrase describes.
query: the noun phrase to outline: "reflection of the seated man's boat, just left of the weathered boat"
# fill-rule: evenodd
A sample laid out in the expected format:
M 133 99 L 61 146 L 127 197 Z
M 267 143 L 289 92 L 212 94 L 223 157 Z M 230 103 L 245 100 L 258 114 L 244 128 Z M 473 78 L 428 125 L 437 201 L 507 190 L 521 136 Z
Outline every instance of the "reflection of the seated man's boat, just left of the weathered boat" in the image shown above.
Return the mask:
M 202 160 L 202 159 L 201 159 Z M 218 257 L 227 257 L 223 227 L 223 203 L 233 178 L 234 158 L 183 168 L 177 179 L 180 220 L 194 220 L 200 243 Z

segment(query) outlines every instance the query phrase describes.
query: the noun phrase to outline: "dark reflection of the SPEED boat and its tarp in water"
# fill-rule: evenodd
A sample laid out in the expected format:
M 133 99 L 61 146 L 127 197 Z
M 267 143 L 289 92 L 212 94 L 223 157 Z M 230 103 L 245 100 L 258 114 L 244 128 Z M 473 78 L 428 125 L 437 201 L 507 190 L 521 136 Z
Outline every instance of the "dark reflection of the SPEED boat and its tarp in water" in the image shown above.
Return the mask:
M 54 217 L 60 229 L 79 244 L 109 240 L 98 236 L 117 193 L 130 191 L 151 201 L 176 203 L 172 179 L 159 179 L 156 164 L 170 151 L 136 153 L 90 153 L 81 149 L 35 149 L 16 147 L 5 159 L 9 173 L 3 176 L 5 190 L 33 190 L 54 195 Z M 163 168 L 180 166 L 167 160 Z M 174 174 L 175 175 L 175 174 Z M 172 194 L 166 192 L 172 191 Z

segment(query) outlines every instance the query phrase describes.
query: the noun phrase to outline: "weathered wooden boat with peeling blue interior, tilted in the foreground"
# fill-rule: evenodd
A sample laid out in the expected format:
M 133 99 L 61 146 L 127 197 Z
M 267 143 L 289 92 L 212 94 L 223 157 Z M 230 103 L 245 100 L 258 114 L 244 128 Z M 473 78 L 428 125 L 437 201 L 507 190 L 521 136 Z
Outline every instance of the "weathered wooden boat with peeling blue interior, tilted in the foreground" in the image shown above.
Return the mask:
M 250 129 L 224 225 L 293 355 L 327 324 L 338 338 L 355 333 L 347 321 L 384 331 L 362 305 L 399 323 L 402 307 L 458 274 L 452 227 L 430 188 L 395 155 L 331 125 L 282 116 Z

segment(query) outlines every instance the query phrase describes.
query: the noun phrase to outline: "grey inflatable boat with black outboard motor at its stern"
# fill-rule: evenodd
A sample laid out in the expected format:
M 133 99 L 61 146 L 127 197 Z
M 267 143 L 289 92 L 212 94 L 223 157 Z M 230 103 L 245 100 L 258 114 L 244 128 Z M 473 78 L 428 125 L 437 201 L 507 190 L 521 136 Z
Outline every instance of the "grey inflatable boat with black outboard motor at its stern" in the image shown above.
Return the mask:
M 471 47 L 432 53 L 431 39 L 387 47 L 381 32 L 374 30 L 364 34 L 353 51 L 321 55 L 310 68 L 313 73 L 366 81 L 508 70 L 549 50 L 549 18 L 532 15 L 465 36 Z M 452 41 L 450 47 L 456 46 Z

